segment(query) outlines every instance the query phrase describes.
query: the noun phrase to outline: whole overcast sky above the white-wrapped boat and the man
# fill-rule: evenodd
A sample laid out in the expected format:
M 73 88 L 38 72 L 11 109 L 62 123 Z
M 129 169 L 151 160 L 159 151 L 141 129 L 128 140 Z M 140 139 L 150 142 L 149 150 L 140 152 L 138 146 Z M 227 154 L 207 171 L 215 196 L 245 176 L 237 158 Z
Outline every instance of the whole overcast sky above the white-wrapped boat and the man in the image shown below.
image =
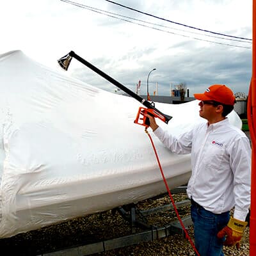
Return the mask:
M 239 38 L 252 38 L 251 0 L 115 1 L 162 19 L 106 0 L 73 2 L 79 6 L 61 0 L 1 0 L 0 54 L 19 49 L 55 69 L 58 58 L 74 51 L 133 91 L 141 80 L 141 94 L 147 92 L 152 68 L 151 95 L 156 83 L 158 95 L 170 95 L 170 84 L 179 83 L 186 83 L 191 94 L 216 83 L 248 94 L 252 41 Z M 77 60 L 66 73 L 111 92 L 116 89 Z

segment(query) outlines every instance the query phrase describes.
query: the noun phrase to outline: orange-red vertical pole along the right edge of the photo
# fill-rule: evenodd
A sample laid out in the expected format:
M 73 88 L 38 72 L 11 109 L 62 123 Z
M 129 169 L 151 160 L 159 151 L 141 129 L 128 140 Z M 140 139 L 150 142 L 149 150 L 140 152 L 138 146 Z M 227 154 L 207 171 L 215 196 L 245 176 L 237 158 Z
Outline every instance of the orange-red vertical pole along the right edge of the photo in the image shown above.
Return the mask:
M 252 81 L 248 95 L 248 123 L 252 138 L 252 183 L 250 215 L 250 255 L 256 255 L 256 0 L 252 4 Z

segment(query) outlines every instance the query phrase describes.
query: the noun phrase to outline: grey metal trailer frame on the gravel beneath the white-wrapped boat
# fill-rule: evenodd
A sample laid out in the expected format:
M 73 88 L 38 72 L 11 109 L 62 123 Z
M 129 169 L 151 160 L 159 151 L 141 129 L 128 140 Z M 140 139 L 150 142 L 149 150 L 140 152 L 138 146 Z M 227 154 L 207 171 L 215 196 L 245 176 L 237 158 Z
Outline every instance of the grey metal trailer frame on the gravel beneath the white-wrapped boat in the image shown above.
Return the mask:
M 172 194 L 184 193 L 186 187 L 179 187 L 173 189 Z M 190 200 L 184 200 L 177 202 L 176 207 L 183 207 L 190 204 Z M 155 239 L 172 236 L 174 234 L 182 234 L 184 236 L 184 230 L 180 226 L 179 220 L 172 221 L 168 225 L 163 227 L 157 227 L 155 225 L 148 225 L 146 216 L 155 214 L 157 212 L 170 211 L 173 209 L 173 205 L 163 205 L 160 207 L 154 207 L 145 211 L 140 211 L 136 204 L 124 205 L 118 207 L 113 211 L 118 211 L 121 216 L 131 223 L 132 234 L 129 236 L 117 237 L 106 241 L 95 241 L 95 243 L 84 244 L 82 246 L 76 246 L 74 248 L 68 248 L 65 250 L 59 250 L 58 252 L 44 253 L 38 256 L 86 256 L 93 253 L 106 252 L 108 250 L 114 250 L 125 246 L 131 246 L 139 242 L 153 241 Z M 193 225 L 190 216 L 182 218 L 182 222 L 185 227 Z M 145 231 L 136 232 L 136 228 L 143 228 Z

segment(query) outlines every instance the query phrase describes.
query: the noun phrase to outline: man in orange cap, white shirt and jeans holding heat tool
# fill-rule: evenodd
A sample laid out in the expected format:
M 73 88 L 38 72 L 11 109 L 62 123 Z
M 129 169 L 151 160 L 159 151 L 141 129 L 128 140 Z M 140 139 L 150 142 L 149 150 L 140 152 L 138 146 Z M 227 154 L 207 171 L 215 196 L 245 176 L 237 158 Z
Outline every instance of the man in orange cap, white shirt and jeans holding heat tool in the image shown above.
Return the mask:
M 221 256 L 224 245 L 236 244 L 246 227 L 250 206 L 251 148 L 243 131 L 230 125 L 228 113 L 236 102 L 230 88 L 213 84 L 196 93 L 199 115 L 207 122 L 175 138 L 147 115 L 150 127 L 172 152 L 191 153 L 188 197 L 200 256 Z M 234 216 L 230 210 L 234 208 Z

